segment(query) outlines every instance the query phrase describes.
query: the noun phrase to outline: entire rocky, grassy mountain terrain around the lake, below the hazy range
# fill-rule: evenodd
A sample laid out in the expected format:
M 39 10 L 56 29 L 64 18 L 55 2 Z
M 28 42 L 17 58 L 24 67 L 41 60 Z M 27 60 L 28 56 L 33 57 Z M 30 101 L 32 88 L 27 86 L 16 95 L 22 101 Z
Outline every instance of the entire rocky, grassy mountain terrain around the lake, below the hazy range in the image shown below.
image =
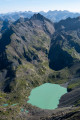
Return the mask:
M 24 108 L 29 111 L 29 120 L 78 120 L 80 17 L 53 24 L 41 14 L 34 14 L 4 28 L 0 38 L 0 119 L 25 120 L 26 114 L 21 112 Z M 26 103 L 31 89 L 46 82 L 68 89 L 56 111 L 40 110 Z

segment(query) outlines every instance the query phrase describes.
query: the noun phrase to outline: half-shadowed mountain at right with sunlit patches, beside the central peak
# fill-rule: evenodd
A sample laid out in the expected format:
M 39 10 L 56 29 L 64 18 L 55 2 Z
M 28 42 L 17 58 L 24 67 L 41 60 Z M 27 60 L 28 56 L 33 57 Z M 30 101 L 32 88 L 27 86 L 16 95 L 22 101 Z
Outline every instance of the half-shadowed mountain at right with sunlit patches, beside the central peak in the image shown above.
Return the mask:
M 68 18 L 55 24 L 49 51 L 50 67 L 61 70 L 80 60 L 80 19 Z

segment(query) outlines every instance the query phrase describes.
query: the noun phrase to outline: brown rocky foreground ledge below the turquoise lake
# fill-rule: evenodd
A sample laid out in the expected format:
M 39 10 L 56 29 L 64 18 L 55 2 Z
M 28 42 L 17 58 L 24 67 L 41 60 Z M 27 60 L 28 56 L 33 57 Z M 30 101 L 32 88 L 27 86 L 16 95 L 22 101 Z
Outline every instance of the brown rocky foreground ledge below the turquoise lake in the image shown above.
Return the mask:
M 31 110 L 27 115 L 20 116 L 21 120 L 80 120 L 80 108 L 65 107 L 56 110 Z

